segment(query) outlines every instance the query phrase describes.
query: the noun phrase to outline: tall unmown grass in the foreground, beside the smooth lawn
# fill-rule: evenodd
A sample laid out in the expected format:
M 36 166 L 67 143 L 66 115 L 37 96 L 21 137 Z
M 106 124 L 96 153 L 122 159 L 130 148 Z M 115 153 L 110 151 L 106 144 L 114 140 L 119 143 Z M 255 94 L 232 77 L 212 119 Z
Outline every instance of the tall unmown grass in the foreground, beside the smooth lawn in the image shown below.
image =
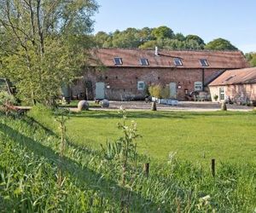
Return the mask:
M 143 164 L 148 158 L 139 156 L 122 186 L 114 158 L 71 142 L 60 158 L 60 137 L 48 128 L 38 118 L 1 117 L 0 211 L 120 212 L 124 192 L 129 194 L 130 212 L 253 212 L 256 208 L 256 164 L 218 164 L 212 177 L 200 164 L 170 155 L 166 163 L 151 161 L 145 176 Z M 61 185 L 56 175 L 60 161 L 65 176 Z

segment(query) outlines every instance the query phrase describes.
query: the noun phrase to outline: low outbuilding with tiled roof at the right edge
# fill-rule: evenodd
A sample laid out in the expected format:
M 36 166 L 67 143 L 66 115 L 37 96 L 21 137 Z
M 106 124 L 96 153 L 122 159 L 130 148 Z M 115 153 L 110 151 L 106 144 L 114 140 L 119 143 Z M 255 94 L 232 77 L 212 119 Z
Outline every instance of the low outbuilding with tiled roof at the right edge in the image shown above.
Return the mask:
M 256 101 L 256 67 L 228 70 L 208 84 L 212 101 L 230 100 L 239 104 Z

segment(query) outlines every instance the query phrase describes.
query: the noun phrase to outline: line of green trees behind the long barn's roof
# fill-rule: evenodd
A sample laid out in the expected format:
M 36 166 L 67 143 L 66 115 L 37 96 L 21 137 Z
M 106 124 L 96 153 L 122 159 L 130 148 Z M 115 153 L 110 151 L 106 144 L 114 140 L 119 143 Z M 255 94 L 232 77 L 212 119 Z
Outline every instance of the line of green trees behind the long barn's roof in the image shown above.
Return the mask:
M 237 49 L 230 41 L 216 38 L 209 43 L 197 35 L 184 36 L 174 33 L 168 26 L 154 28 L 143 27 L 136 29 L 129 27 L 124 31 L 97 32 L 93 37 L 97 48 L 139 48 L 154 49 Z

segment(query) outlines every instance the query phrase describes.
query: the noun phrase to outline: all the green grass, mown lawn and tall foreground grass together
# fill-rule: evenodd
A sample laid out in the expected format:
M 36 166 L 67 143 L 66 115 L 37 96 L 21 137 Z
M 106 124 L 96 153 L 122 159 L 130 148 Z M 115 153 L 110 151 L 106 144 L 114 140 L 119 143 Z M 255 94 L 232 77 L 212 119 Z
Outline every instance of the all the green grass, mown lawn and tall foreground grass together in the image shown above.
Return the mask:
M 152 160 L 146 176 L 143 165 L 148 158 L 132 152 L 124 161 L 120 143 L 104 152 L 75 145 L 98 148 L 100 142 L 121 135 L 115 127 L 117 112 L 72 113 L 63 153 L 53 113 L 38 106 L 28 117 L 0 116 L 0 212 L 255 210 L 253 112 L 129 113 L 143 135 L 137 141 L 140 153 L 166 159 L 170 151 L 177 151 L 180 158 L 189 160 Z M 235 160 L 217 161 L 212 177 L 209 167 L 195 164 L 212 157 Z M 254 163 L 248 164 L 251 160 Z

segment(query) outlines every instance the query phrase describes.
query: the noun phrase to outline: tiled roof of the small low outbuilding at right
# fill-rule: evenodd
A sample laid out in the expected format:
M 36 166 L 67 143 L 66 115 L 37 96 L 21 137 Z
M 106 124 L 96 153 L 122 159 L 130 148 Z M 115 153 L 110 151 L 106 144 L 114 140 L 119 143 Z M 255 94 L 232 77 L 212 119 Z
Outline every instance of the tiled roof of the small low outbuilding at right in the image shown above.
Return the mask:
M 256 67 L 229 70 L 216 78 L 209 86 L 256 83 Z

